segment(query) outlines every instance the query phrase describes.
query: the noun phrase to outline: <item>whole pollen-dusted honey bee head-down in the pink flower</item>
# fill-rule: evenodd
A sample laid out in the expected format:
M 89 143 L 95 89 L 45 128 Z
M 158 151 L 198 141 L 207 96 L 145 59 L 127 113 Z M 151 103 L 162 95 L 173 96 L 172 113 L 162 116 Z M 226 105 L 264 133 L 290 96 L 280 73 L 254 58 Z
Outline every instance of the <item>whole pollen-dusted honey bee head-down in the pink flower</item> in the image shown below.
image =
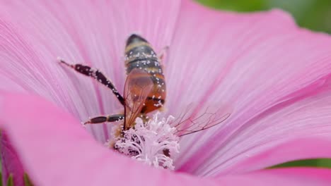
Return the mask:
M 146 114 L 161 110 L 165 104 L 166 87 L 163 75 L 163 54 L 157 55 L 146 39 L 139 35 L 130 35 L 125 46 L 125 67 L 127 79 L 124 85 L 124 97 L 117 91 L 115 85 L 100 70 L 82 64 L 71 65 L 59 59 L 59 62 L 73 68 L 78 73 L 93 77 L 101 84 L 112 90 L 120 104 L 124 107 L 123 114 L 97 116 L 87 120 L 84 124 L 115 122 L 124 120 L 124 130 L 134 128 L 136 118 L 148 120 Z M 178 136 L 188 135 L 200 130 L 211 128 L 223 122 L 229 114 L 218 116 L 216 112 L 207 110 L 202 114 L 183 114 L 175 120 L 173 126 L 177 128 Z

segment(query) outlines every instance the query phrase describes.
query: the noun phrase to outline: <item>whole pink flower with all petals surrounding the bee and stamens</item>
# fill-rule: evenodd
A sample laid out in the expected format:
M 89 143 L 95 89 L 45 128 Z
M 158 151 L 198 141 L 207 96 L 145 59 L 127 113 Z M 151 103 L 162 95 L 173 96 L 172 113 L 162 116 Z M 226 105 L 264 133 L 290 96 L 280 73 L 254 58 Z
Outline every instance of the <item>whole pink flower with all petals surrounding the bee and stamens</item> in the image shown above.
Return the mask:
M 103 147 L 112 124 L 82 128 L 122 107 L 109 89 L 56 63 L 99 68 L 122 90 L 132 32 L 156 51 L 170 46 L 165 116 L 192 102 L 231 108 L 217 127 L 182 137 L 175 172 Z M 286 13 L 190 1 L 6 1 L 0 52 L 1 155 L 16 185 L 23 172 L 36 185 L 330 185 L 326 169 L 263 170 L 331 156 L 331 39 Z

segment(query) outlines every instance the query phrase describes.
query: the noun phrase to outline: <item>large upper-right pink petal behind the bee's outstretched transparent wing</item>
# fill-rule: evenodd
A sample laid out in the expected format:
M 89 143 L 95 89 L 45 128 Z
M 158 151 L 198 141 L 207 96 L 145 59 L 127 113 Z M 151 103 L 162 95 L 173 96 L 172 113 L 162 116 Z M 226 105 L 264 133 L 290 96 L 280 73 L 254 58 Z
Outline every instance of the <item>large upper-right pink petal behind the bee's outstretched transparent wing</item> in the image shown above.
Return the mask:
M 177 25 L 170 58 L 165 64 L 166 77 L 176 77 L 168 78 L 168 90 L 172 92 L 168 97 L 168 113 L 176 116 L 183 105 L 192 101 L 199 102 L 202 108 L 221 102 L 232 108 L 231 118 L 214 130 L 182 139 L 179 171 L 213 175 L 225 169 L 232 162 L 229 159 L 248 149 L 236 142 L 245 141 L 248 136 L 242 134 L 255 126 L 270 128 L 260 133 L 264 135 L 262 139 L 251 137 L 242 144 L 250 143 L 252 148 L 274 140 L 272 132 L 284 132 L 285 122 L 284 125 L 256 122 L 271 111 L 281 111 L 315 94 L 331 73 L 330 36 L 298 28 L 281 11 L 224 13 L 185 1 Z M 319 111 L 310 109 L 314 113 Z M 327 116 L 324 119 L 328 120 Z M 285 129 L 294 133 L 294 138 L 302 137 L 303 133 L 310 135 L 307 131 L 323 125 L 320 122 L 325 120 Z M 325 124 L 324 128 L 329 130 L 330 126 Z M 249 131 L 250 135 L 258 132 Z

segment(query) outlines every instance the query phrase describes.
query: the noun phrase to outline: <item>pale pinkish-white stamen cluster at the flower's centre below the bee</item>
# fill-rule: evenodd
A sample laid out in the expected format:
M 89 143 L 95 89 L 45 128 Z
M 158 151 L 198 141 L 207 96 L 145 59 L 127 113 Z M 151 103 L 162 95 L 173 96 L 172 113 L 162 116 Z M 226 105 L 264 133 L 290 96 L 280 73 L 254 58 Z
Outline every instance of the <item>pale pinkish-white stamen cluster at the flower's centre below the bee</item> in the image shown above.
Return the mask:
M 124 131 L 124 137 L 117 139 L 115 149 L 150 166 L 173 170 L 173 158 L 180 149 L 179 137 L 174 134 L 176 129 L 169 125 L 173 116 L 161 120 L 158 116 L 156 113 L 145 123 L 137 118 L 135 127 Z

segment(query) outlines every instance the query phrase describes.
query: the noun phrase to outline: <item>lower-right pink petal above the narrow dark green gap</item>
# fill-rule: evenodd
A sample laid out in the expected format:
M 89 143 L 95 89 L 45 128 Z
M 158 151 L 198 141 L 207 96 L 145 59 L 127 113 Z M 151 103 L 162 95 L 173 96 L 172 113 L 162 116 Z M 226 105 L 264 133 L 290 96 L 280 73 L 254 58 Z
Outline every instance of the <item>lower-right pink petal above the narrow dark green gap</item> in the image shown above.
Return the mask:
M 252 120 L 245 128 L 238 130 L 198 171 L 203 175 L 247 172 L 297 159 L 330 158 L 330 85 L 330 80 L 327 80 L 325 87 L 318 89 L 315 94 L 286 101 Z M 291 142 L 302 138 L 308 139 L 304 142 Z M 262 154 L 271 153 L 269 149 L 281 151 L 281 148 L 277 147 L 280 144 L 291 151 L 285 153 L 284 150 L 282 156 L 275 154 L 268 159 L 258 158 L 265 157 Z M 257 156 L 259 163 L 251 162 L 254 166 L 248 163 L 245 163 L 247 166 L 236 165 L 241 161 L 250 161 L 251 156 Z

